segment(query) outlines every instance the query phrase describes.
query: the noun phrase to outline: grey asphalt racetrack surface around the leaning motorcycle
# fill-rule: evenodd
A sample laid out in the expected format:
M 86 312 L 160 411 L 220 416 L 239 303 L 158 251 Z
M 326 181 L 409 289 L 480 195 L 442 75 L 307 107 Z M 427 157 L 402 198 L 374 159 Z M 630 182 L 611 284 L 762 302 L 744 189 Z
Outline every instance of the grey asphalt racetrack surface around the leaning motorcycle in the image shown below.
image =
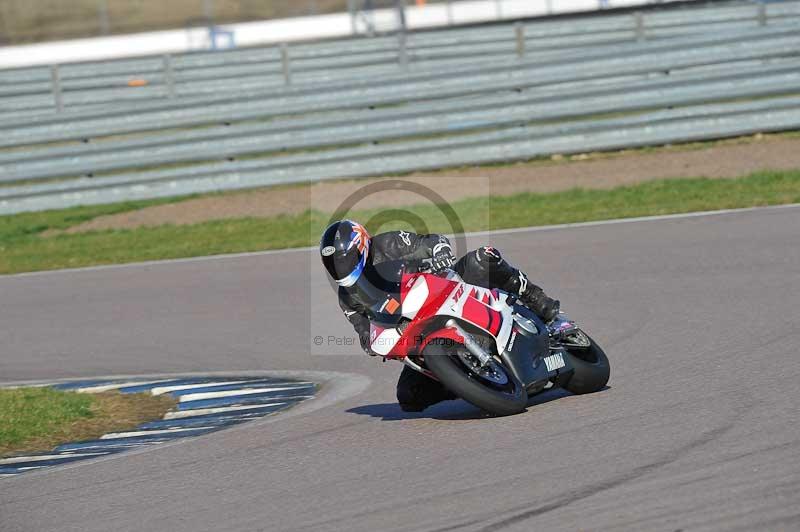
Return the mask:
M 0 277 L 2 381 L 371 379 L 270 423 L 0 480 L 0 530 L 800 529 L 800 208 L 471 244 L 487 241 L 605 348 L 609 388 L 506 418 L 404 414 L 399 364 L 309 353 L 349 325 L 332 293 L 311 303 L 308 251 Z

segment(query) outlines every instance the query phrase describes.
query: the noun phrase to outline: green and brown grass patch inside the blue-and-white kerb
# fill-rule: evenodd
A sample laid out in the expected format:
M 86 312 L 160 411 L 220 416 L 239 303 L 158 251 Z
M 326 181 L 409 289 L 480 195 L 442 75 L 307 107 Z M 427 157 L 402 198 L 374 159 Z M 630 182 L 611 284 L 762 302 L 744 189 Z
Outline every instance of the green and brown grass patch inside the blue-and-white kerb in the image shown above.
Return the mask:
M 174 404 L 171 397 L 145 394 L 0 390 L 0 457 L 132 429 L 160 419 Z

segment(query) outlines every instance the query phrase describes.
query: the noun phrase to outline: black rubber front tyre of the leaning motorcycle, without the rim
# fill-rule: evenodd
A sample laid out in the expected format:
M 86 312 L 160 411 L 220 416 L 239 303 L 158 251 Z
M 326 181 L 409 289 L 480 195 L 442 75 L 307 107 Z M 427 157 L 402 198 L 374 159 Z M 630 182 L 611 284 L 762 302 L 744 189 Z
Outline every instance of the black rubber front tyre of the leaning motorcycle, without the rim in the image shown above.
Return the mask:
M 464 349 L 463 346 L 457 348 Z M 454 348 L 434 342 L 423 352 L 428 369 L 439 378 L 445 388 L 490 414 L 510 416 L 525 411 L 528 393 L 510 371 L 503 368 L 508 377 L 508 389 L 496 389 L 470 372 L 453 354 L 452 349 Z

